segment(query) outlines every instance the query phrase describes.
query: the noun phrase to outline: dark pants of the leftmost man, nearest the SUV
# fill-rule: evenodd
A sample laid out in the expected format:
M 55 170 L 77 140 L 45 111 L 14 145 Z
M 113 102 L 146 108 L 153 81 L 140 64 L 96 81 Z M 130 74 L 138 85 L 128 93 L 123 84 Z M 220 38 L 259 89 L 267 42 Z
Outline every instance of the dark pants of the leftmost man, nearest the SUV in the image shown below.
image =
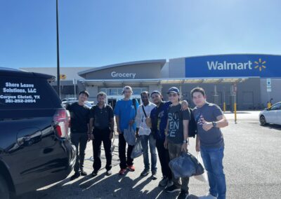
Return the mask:
M 88 141 L 88 134 L 86 132 L 71 134 L 71 142 L 72 144 L 74 144 L 74 146 L 77 149 L 76 150 L 77 158 L 74 165 L 74 172 L 79 172 L 79 170 L 80 171 L 83 170 L 87 141 Z

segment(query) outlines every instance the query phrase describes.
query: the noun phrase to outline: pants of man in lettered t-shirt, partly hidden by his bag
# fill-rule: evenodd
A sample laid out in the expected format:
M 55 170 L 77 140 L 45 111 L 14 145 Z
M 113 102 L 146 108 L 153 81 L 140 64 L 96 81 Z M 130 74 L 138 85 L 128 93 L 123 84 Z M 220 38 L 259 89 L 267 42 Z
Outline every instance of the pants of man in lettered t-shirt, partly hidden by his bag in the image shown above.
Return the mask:
M 168 150 L 169 150 L 169 155 L 170 155 L 170 160 L 173 160 L 174 158 L 178 158 L 181 156 L 181 146 L 183 144 L 174 144 L 172 142 L 168 141 Z M 176 179 L 174 177 L 174 174 L 172 174 L 173 182 L 174 185 L 177 187 L 181 187 L 181 190 L 185 191 L 188 193 L 188 183 L 189 183 L 189 177 L 181 177 L 180 179 Z

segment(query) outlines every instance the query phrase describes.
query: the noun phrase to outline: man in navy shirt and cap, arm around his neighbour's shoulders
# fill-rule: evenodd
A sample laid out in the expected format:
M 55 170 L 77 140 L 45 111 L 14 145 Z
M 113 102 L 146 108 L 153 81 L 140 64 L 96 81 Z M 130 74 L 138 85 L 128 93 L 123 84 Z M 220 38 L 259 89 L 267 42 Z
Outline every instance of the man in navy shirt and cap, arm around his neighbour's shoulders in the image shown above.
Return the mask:
M 158 151 L 158 157 L 161 164 L 162 180 L 159 181 L 159 186 L 171 186 L 173 184 L 171 169 L 169 167 L 170 157 L 168 149 L 164 148 L 165 141 L 165 128 L 167 123 L 167 111 L 171 102 L 163 102 L 162 94 L 158 90 L 151 93 L 152 102 L 157 107 L 152 109 L 150 118 L 152 122 L 152 135 L 156 138 L 156 147 Z M 182 110 L 188 109 L 188 103 L 183 100 Z

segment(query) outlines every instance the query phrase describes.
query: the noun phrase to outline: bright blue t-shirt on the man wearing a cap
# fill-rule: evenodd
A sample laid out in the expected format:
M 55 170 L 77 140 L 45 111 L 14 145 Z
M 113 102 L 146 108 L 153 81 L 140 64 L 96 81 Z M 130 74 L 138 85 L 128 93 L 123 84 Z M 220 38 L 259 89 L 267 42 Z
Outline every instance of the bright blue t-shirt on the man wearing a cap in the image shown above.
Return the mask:
M 136 100 L 136 109 L 138 109 L 138 100 Z M 136 109 L 133 106 L 133 100 L 121 99 L 117 101 L 114 109 L 115 116 L 119 116 L 119 127 L 122 132 L 129 127 L 129 121 L 136 118 Z M 136 123 L 133 123 L 133 130 L 136 130 Z

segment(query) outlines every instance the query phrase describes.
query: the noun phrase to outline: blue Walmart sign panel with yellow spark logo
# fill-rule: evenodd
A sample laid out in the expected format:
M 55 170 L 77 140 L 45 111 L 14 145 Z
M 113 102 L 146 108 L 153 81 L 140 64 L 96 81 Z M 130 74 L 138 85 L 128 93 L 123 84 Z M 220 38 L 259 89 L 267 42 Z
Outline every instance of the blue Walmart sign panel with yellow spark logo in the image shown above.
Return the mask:
M 185 77 L 281 77 L 281 55 L 244 54 L 186 57 Z

